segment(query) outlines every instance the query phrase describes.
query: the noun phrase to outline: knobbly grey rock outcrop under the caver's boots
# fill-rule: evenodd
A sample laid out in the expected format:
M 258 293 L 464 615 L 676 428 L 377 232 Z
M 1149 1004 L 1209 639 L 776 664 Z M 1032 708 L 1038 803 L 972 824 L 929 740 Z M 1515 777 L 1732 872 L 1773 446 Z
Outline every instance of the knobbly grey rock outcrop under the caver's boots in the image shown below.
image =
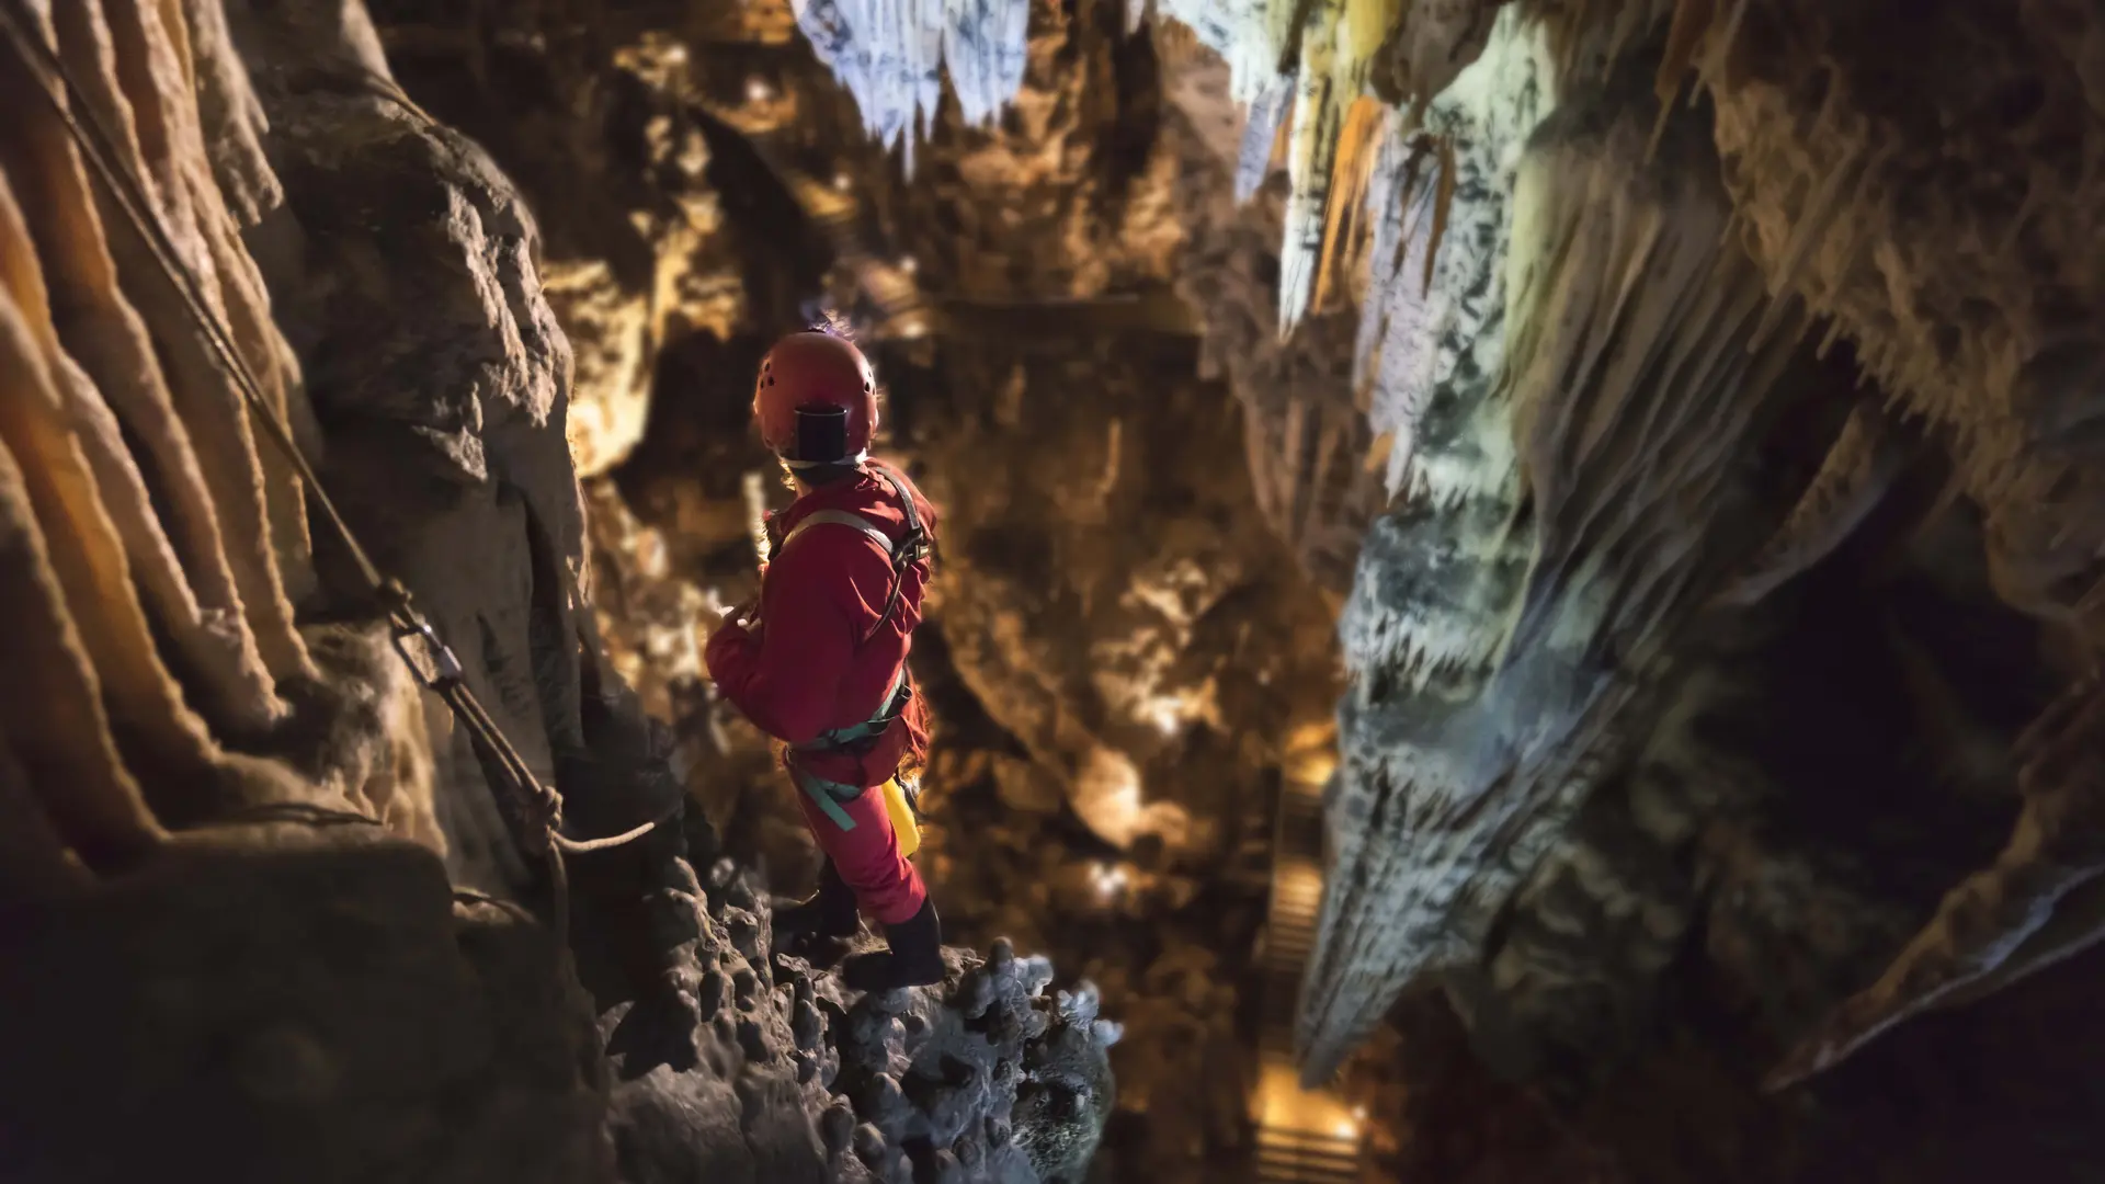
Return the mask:
M 766 895 L 714 857 L 707 824 L 686 838 L 705 879 L 669 857 L 657 883 L 693 1009 L 608 973 L 621 916 L 579 946 L 619 1180 L 1080 1184 L 1116 1104 L 1105 1051 L 1120 1028 L 1097 1018 L 1092 986 L 1048 996 L 1052 965 L 1004 940 L 985 959 L 945 950 L 943 986 L 855 996 L 827 973 L 846 948 L 821 965 L 775 952 Z

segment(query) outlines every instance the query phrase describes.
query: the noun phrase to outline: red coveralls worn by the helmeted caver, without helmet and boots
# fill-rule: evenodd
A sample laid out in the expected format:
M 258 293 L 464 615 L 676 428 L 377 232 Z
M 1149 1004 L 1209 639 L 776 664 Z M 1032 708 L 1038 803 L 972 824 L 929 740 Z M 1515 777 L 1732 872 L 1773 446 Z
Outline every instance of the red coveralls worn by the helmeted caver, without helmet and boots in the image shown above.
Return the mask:
M 914 497 L 922 529 L 933 539 L 935 508 L 905 474 L 893 470 L 893 476 Z M 726 619 L 709 636 L 703 657 L 722 695 L 760 731 L 789 746 L 783 765 L 798 784 L 804 824 L 840 879 L 855 889 L 863 912 L 882 925 L 899 925 L 920 912 L 928 889 L 914 864 L 899 855 L 884 794 L 871 790 L 890 780 L 901 761 L 926 756 L 920 697 L 909 697 L 899 718 L 859 752 L 798 746 L 863 725 L 884 708 L 886 691 L 903 676 L 914 647 L 928 563 L 905 569 L 890 619 L 865 645 L 861 638 L 893 594 L 893 556 L 867 533 L 842 522 L 813 522 L 791 539 L 798 522 L 819 510 L 859 514 L 895 546 L 907 533 L 899 499 L 871 472 L 804 493 L 775 522 L 775 537 L 789 541 L 777 548 L 760 579 L 758 624 L 745 630 Z M 848 828 L 815 798 L 813 780 L 863 790 L 844 803 L 836 796 Z

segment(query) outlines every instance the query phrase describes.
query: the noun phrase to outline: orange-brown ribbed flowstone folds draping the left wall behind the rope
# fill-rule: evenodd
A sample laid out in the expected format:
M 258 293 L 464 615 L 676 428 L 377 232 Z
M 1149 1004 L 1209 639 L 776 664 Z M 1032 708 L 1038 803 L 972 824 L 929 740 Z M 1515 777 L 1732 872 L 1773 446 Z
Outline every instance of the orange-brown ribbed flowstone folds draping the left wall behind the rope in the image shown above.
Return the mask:
M 198 122 L 208 76 L 225 88 L 227 118 L 246 93 L 223 57 L 200 74 L 208 57 L 189 21 L 217 17 L 162 0 L 65 4 L 53 17 L 29 36 L 67 63 L 86 107 L 72 114 L 107 131 L 112 164 L 145 188 L 143 213 L 171 232 L 206 316 L 261 377 L 272 413 L 299 419 L 297 367 Z M 4 55 L 15 59 L 15 46 Z M 309 664 L 282 592 L 312 586 L 305 491 L 242 442 L 248 411 L 229 375 L 145 240 L 112 223 L 124 215 L 38 93 L 46 82 L 29 63 L 0 70 L 0 101 L 17 116 L 0 129 L 0 442 L 13 457 L 0 569 L 27 630 L 8 657 L 17 695 L 0 721 L 13 767 L 61 851 L 95 870 L 128 866 L 168 830 L 265 803 L 364 807 L 434 841 L 427 761 L 387 748 L 387 735 L 421 742 L 415 687 L 394 666 L 322 678 Z M 265 173 L 244 192 L 274 185 Z M 229 497 L 240 512 L 227 512 Z M 278 638 L 278 674 L 297 680 L 286 687 L 303 704 L 299 721 L 280 699 L 265 634 Z

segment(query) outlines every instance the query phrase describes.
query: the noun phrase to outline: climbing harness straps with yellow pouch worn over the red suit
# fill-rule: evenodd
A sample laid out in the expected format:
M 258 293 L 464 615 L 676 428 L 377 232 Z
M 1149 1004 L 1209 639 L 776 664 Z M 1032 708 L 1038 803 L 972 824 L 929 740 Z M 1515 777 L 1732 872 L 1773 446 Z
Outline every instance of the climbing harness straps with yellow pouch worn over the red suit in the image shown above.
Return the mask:
M 777 554 L 781 554 L 783 548 L 789 546 L 791 539 L 796 539 L 806 529 L 817 525 L 836 525 L 861 531 L 863 535 L 874 539 L 880 548 L 884 548 L 884 554 L 893 558 L 893 590 L 884 598 L 884 611 L 878 613 L 878 619 L 871 621 L 869 630 L 863 632 L 863 640 L 857 643 L 857 649 L 869 645 L 878 636 L 878 632 L 882 632 L 884 626 L 890 624 L 893 613 L 899 611 L 899 594 L 905 588 L 907 571 L 916 563 L 928 558 L 930 552 L 928 531 L 926 527 L 922 527 L 920 512 L 914 508 L 914 495 L 907 493 L 905 480 L 897 472 L 893 472 L 890 466 L 882 461 L 865 461 L 865 463 L 869 466 L 871 472 L 876 472 L 884 480 L 884 485 L 890 487 L 893 495 L 899 497 L 899 506 L 905 512 L 907 531 L 897 544 L 876 522 L 871 522 L 861 514 L 855 514 L 850 510 L 815 510 L 806 514 L 802 520 L 798 520 L 796 529 L 783 535 L 783 539 L 775 544 L 773 552 L 768 554 L 768 558 L 773 560 Z M 855 752 L 857 748 L 867 748 L 876 744 L 876 739 L 884 735 L 886 729 L 893 727 L 893 721 L 897 721 L 907 710 L 907 704 L 911 699 L 914 699 L 914 680 L 907 676 L 905 666 L 901 666 L 899 674 L 893 678 L 893 687 L 884 693 L 884 699 L 880 699 L 876 714 L 857 725 L 823 731 L 804 744 L 791 746 L 791 752 L 842 752 L 842 750 Z M 861 786 L 827 782 L 823 777 L 804 773 L 794 765 L 791 765 L 791 777 L 796 780 L 798 788 L 804 790 L 804 794 L 819 805 L 825 817 L 834 822 L 834 826 L 842 830 L 855 830 L 855 820 L 850 820 L 848 813 L 840 807 L 842 803 L 850 803 L 863 796 L 865 790 Z M 907 777 L 901 777 L 899 773 L 893 773 L 884 782 L 882 792 L 884 792 L 884 811 L 890 815 L 893 830 L 899 834 L 899 853 L 914 855 L 914 851 L 920 849 L 920 801 L 918 801 L 920 792 L 916 786 L 907 782 Z

